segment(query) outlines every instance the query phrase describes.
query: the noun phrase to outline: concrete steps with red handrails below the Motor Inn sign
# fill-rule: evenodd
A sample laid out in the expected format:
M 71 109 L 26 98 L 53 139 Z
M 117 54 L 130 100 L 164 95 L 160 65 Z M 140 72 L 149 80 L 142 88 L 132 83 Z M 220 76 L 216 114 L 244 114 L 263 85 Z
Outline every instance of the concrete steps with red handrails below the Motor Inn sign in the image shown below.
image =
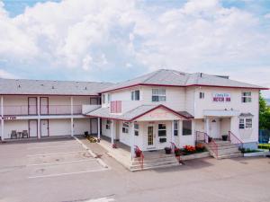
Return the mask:
M 226 159 L 241 157 L 243 154 L 238 150 L 238 145 L 232 144 L 230 141 L 222 141 L 214 139 L 213 143 L 205 144 L 210 154 L 216 159 Z

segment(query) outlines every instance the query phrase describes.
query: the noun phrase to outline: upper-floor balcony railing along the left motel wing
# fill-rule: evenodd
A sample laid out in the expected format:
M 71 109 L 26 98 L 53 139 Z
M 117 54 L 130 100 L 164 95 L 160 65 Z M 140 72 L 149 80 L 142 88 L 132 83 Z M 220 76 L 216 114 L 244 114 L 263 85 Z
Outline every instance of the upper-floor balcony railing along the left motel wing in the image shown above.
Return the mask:
M 73 105 L 73 114 L 82 114 L 82 105 Z M 4 116 L 38 115 L 38 106 L 4 106 Z M 40 115 L 71 115 L 71 105 L 40 105 Z

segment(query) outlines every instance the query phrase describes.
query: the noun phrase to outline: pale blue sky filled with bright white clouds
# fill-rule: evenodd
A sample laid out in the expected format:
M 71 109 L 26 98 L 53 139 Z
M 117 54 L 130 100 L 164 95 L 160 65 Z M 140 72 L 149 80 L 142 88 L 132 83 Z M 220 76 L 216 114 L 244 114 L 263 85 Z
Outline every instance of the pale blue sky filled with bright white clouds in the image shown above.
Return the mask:
M 0 0 L 0 77 L 114 83 L 159 68 L 270 88 L 270 1 Z

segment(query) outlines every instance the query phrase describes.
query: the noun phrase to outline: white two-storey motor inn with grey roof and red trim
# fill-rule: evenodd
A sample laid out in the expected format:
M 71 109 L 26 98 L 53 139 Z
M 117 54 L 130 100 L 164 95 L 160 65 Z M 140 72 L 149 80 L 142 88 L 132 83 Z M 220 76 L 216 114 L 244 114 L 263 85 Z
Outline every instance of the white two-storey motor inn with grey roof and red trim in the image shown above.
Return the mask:
M 87 131 L 148 151 L 194 145 L 198 132 L 213 139 L 230 133 L 254 148 L 261 90 L 267 88 L 169 69 L 115 84 L 0 79 L 1 139 Z

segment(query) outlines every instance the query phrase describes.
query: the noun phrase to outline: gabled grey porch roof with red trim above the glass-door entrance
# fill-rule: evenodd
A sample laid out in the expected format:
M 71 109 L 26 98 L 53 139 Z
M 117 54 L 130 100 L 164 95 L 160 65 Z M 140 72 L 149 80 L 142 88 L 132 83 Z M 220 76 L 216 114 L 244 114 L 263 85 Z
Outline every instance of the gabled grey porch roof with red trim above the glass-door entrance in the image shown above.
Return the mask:
M 108 108 L 99 108 L 86 113 L 85 116 L 123 121 L 193 119 L 193 116 L 186 111 L 175 111 L 164 105 L 140 105 L 123 114 L 113 114 Z

